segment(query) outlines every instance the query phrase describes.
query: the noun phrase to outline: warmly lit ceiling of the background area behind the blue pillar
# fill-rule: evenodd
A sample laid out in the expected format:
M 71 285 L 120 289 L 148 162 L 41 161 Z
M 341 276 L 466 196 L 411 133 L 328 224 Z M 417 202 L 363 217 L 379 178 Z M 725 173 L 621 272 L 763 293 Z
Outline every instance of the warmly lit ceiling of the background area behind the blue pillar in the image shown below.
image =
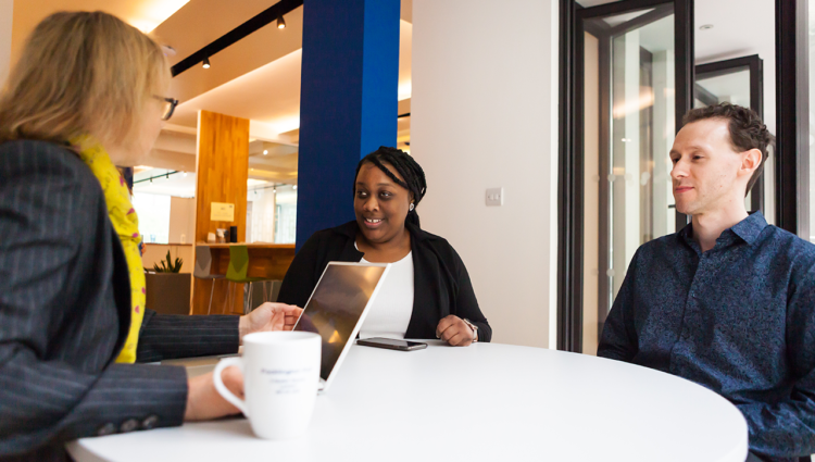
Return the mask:
M 412 1 L 402 0 L 401 4 L 398 114 L 410 112 L 413 30 Z M 171 63 L 177 63 L 268 5 L 268 1 L 260 0 L 238 4 L 191 0 L 151 35 L 176 50 Z M 250 136 L 255 139 L 250 143 L 251 180 L 297 184 L 302 8 L 288 13 L 286 24 L 283 30 L 274 24 L 263 27 L 216 53 L 210 58 L 209 70 L 199 64 L 174 78 L 172 95 L 181 103 L 147 161 L 151 166 L 183 170 L 195 165 L 198 111 L 206 110 L 250 120 Z M 410 117 L 402 117 L 394 143 L 409 149 L 409 140 Z M 263 155 L 263 149 L 269 154 Z M 166 182 L 142 183 L 137 189 L 184 196 L 190 182 L 195 182 L 191 174 L 186 178 L 171 176 Z

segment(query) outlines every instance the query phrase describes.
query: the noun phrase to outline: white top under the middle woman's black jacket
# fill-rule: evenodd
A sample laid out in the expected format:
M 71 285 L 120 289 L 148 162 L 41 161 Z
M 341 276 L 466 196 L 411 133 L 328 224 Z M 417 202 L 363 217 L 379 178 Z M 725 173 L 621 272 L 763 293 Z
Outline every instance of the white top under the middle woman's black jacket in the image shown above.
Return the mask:
M 371 263 L 364 258 L 360 263 Z M 413 314 L 413 251 L 390 272 L 360 328 L 360 338 L 404 338 Z

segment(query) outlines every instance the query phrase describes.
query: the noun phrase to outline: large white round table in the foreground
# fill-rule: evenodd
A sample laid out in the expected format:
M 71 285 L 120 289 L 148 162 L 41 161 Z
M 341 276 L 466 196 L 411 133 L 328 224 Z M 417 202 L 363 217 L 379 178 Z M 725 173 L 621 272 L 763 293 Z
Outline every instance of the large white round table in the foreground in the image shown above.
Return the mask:
M 267 441 L 230 419 L 83 438 L 78 461 L 743 462 L 748 429 L 727 400 L 617 361 L 539 348 L 431 341 L 353 346 L 308 434 Z

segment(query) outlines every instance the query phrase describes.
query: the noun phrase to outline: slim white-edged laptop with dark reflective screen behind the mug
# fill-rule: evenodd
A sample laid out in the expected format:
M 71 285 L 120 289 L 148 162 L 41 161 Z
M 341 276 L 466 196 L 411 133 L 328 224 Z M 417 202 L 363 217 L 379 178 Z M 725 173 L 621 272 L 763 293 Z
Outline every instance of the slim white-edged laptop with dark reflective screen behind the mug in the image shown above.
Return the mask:
M 294 325 L 323 337 L 319 392 L 337 376 L 389 270 L 390 263 L 329 262 L 323 271 Z

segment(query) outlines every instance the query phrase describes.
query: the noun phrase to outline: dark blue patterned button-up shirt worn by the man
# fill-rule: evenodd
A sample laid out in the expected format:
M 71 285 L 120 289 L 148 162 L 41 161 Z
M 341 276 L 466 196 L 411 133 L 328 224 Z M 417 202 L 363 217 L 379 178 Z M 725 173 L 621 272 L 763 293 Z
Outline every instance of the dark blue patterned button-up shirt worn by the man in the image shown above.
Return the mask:
M 815 452 L 815 245 L 755 212 L 702 252 L 692 225 L 641 246 L 598 355 L 703 385 L 744 414 L 750 450 Z

